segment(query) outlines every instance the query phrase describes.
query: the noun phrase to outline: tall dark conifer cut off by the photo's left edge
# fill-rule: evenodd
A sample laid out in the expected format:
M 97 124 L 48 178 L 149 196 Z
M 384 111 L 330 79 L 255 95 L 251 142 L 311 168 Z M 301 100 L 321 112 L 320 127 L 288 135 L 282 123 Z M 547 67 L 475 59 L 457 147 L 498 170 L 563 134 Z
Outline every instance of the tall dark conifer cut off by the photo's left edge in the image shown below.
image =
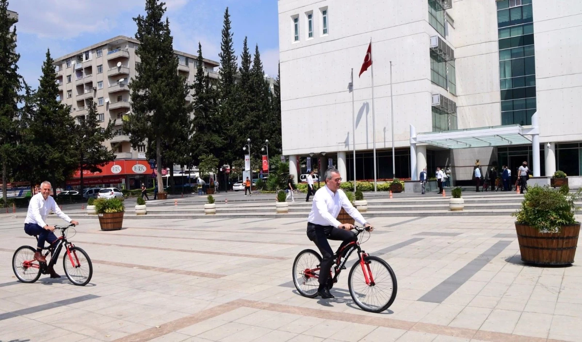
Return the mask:
M 15 154 L 18 122 L 17 101 L 22 89 L 16 53 L 16 19 L 8 16 L 8 1 L 0 0 L 0 159 L 2 159 L 2 199 L 6 205 L 8 168 Z M 54 83 L 54 80 L 53 80 Z

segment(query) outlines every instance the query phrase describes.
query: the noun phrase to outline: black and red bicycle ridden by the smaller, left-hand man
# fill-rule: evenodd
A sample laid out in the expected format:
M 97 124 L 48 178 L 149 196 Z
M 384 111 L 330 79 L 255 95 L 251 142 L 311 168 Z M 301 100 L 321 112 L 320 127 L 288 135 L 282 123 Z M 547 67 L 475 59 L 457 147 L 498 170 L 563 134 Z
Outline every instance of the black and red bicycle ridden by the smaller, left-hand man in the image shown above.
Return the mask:
M 45 258 L 47 258 L 48 254 L 51 254 L 51 258 L 47 258 L 47 263 L 38 262 L 34 259 L 36 250 L 33 247 L 19 247 L 12 257 L 12 270 L 16 277 L 23 283 L 34 283 L 41 274 L 48 274 L 49 267 L 55 266 L 64 245 L 66 252 L 63 255 L 63 269 L 66 276 L 74 285 L 87 285 L 91 280 L 91 276 L 93 276 L 93 264 L 91 264 L 91 259 L 87 252 L 67 240 L 67 232 L 73 226 L 55 226 L 55 230 L 61 231 L 61 236 L 51 246 L 42 248 Z

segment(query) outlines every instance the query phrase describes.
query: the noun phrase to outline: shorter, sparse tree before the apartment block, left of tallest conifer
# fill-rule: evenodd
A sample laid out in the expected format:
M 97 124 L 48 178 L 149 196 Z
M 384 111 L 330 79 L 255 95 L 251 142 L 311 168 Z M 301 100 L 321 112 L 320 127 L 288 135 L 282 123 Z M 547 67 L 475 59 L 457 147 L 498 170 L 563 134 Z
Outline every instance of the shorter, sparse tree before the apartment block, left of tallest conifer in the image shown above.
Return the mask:
M 81 174 L 81 190 L 83 193 L 83 170 L 101 172 L 101 167 L 115 159 L 113 151 L 108 151 L 103 145 L 105 140 L 113 138 L 114 123 L 109 120 L 103 129 L 97 119 L 97 105 L 91 101 L 88 114 L 75 126 L 76 160 Z

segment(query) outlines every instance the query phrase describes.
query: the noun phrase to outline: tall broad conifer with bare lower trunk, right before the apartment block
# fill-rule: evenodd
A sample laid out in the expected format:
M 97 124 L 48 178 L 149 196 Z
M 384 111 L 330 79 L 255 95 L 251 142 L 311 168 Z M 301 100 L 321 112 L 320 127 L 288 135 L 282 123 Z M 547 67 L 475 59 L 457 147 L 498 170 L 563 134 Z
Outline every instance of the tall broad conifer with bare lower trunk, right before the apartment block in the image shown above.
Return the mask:
M 134 146 L 147 139 L 155 147 L 158 184 L 162 184 L 163 145 L 168 149 L 183 145 L 192 111 L 192 106 L 186 104 L 190 87 L 176 71 L 178 58 L 173 51 L 169 20 L 162 21 L 164 6 L 164 2 L 147 0 L 145 17 L 133 18 L 137 24 L 135 37 L 140 41 L 136 55 L 141 63 L 136 65 L 137 76 L 129 84 L 133 115 L 123 124 L 123 129 L 131 133 Z M 164 193 L 164 187 L 159 187 L 159 193 Z

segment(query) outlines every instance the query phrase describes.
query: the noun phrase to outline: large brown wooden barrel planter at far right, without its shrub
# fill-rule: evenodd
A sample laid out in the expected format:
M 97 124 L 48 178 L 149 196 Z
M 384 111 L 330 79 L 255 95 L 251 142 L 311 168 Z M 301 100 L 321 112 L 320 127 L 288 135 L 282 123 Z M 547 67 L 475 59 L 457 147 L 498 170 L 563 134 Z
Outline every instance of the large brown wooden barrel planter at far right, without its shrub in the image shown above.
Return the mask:
M 559 233 L 540 233 L 535 227 L 515 224 L 521 261 L 534 265 L 569 265 L 574 262 L 580 223 L 560 227 Z

